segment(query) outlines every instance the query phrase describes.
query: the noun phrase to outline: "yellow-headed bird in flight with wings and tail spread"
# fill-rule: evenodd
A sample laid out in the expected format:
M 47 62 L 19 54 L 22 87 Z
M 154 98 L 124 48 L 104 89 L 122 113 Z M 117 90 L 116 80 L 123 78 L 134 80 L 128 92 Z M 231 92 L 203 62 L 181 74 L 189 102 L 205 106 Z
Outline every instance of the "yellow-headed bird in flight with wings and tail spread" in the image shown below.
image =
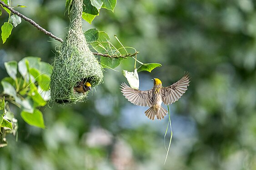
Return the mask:
M 176 102 L 186 92 L 190 83 L 189 74 L 184 75 L 179 81 L 168 87 L 163 87 L 161 80 L 154 78 L 154 87 L 141 91 L 121 83 L 121 92 L 133 104 L 150 107 L 145 114 L 152 121 L 155 117 L 159 120 L 166 116 L 168 111 L 161 106 L 162 102 L 169 105 Z

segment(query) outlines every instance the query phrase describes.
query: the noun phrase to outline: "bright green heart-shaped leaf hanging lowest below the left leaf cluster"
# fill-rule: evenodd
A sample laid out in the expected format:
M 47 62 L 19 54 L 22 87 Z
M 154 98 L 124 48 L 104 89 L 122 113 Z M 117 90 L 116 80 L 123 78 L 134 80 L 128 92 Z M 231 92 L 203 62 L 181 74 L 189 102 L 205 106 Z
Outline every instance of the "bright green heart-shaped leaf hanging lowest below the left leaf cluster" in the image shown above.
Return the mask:
M 21 112 L 22 119 L 31 126 L 36 126 L 40 128 L 45 128 L 44 118 L 40 110 L 35 109 L 33 113 L 28 113 L 25 111 Z

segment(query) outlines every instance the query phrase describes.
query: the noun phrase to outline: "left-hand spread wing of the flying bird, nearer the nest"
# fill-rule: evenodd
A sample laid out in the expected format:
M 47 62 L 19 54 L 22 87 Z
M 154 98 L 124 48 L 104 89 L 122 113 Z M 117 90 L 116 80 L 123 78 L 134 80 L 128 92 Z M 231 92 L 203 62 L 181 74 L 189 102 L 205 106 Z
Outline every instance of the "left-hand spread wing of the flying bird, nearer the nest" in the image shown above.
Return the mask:
M 139 106 L 152 106 L 152 90 L 136 90 L 129 86 L 127 86 L 125 83 L 121 83 L 121 92 L 125 96 L 125 98 L 128 99 L 129 102 L 139 105 Z

